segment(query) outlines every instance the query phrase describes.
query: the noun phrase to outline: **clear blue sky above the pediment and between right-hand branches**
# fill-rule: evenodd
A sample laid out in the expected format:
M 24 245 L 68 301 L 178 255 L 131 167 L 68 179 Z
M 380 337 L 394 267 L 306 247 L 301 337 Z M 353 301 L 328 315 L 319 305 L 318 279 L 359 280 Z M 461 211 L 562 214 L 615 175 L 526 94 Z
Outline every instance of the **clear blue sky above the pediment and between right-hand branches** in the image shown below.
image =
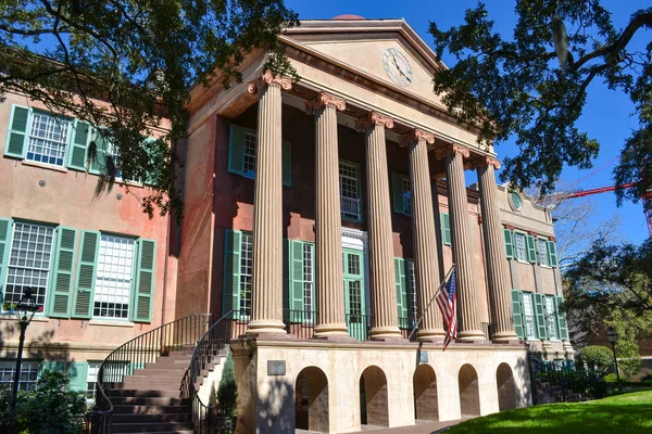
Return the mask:
M 436 22 L 442 29 L 460 25 L 464 21 L 464 11 L 474 8 L 476 0 L 437 1 L 437 0 L 412 0 L 412 1 L 372 1 L 372 0 L 329 0 L 326 2 L 309 0 L 286 0 L 286 4 L 299 13 L 302 20 L 331 18 L 340 14 L 355 14 L 366 18 L 404 18 L 412 28 L 428 43 L 432 39 L 428 34 L 428 24 Z M 505 37 L 512 35 L 516 21 L 513 0 L 486 1 L 490 16 L 496 21 L 498 30 Z M 650 3 L 641 0 L 617 0 L 603 1 L 607 10 L 613 13 L 614 23 L 624 27 L 632 11 L 639 8 L 648 8 Z M 624 5 L 625 4 L 625 5 Z M 634 42 L 643 47 L 645 39 L 650 39 L 650 33 L 638 35 Z M 443 61 L 452 65 L 454 60 L 444 55 Z M 625 139 L 637 128 L 637 118 L 632 116 L 634 105 L 628 97 L 607 90 L 602 84 L 592 84 L 589 87 L 589 100 L 579 122 L 579 127 L 601 143 L 600 156 L 593 164 L 593 169 L 577 170 L 565 169 L 563 180 L 567 183 L 580 181 L 576 188 L 592 189 L 613 184 L 612 169 L 617 162 L 615 157 L 619 154 Z M 514 155 L 517 150 L 513 142 L 505 142 L 497 148 L 499 157 Z M 471 174 L 469 174 L 471 175 Z M 601 221 L 613 218 L 617 214 L 620 221 L 622 235 L 631 242 L 640 243 L 648 237 L 648 229 L 643 217 L 641 203 L 625 203 L 620 208 L 616 207 L 613 193 L 603 193 L 591 196 L 598 215 L 591 220 L 592 225 L 599 226 Z M 582 199 L 574 199 L 582 201 Z

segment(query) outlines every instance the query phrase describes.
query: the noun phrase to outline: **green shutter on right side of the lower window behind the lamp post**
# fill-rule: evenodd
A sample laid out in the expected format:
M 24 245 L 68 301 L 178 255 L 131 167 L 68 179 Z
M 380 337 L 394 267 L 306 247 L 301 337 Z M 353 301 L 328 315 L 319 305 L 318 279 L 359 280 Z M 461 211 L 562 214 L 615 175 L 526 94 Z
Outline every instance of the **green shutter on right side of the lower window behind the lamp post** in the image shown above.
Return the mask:
M 46 315 L 52 318 L 68 318 L 73 291 L 73 266 L 75 263 L 75 241 L 77 230 L 60 226 L 57 228 L 57 245 L 54 250 L 54 267 Z

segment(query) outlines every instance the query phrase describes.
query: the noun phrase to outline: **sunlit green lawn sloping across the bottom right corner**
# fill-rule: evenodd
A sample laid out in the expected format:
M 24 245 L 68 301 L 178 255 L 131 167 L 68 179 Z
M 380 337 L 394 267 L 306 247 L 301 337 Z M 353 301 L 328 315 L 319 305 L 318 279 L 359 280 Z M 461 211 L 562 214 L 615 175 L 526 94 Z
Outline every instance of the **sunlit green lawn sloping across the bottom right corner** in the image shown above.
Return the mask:
M 453 426 L 463 433 L 652 433 L 652 391 L 588 403 L 549 404 L 503 411 Z

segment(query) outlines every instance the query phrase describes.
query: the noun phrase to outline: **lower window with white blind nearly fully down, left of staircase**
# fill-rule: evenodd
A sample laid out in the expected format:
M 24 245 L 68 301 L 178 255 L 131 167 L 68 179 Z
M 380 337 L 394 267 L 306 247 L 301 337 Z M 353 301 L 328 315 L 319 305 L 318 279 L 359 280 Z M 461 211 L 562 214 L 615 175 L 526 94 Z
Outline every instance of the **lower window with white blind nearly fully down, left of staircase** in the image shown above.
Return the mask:
M 93 316 L 129 318 L 136 240 L 102 234 L 98 255 Z

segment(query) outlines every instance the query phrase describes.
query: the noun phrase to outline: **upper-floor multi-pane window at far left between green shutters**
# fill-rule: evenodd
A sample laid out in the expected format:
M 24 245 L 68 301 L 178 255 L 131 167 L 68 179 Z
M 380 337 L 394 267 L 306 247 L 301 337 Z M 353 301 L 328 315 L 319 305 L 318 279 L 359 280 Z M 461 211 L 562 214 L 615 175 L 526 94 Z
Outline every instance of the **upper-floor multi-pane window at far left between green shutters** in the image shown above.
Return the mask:
M 71 122 L 34 111 L 26 158 L 63 167 L 70 140 Z

